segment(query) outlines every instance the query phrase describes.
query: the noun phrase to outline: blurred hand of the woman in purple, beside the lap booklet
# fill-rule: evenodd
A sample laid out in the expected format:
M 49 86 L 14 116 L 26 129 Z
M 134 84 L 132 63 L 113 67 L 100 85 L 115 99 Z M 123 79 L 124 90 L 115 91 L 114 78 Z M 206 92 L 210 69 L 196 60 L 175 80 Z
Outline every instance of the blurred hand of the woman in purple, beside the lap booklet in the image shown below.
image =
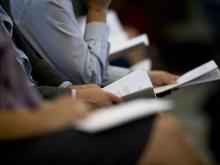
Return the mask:
M 89 114 L 89 107 L 72 97 L 62 97 L 55 101 L 48 102 L 40 107 L 40 120 L 47 121 L 55 129 L 66 128 L 86 117 Z M 40 110 L 39 110 L 40 111 Z

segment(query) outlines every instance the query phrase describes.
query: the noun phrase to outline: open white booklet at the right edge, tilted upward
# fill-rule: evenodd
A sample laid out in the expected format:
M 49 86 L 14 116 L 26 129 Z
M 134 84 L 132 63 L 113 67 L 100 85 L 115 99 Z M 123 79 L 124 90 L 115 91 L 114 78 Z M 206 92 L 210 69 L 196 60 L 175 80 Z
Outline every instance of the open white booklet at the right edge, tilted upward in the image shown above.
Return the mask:
M 214 74 L 214 75 L 208 74 L 216 69 L 218 69 L 218 66 L 216 65 L 216 63 L 213 60 L 211 60 L 211 61 L 209 61 L 199 67 L 196 67 L 195 69 L 183 74 L 182 76 L 180 76 L 177 80 L 177 84 L 157 87 L 154 89 L 154 92 L 156 94 L 163 93 L 167 90 L 178 88 L 182 85 L 184 86 L 185 84 L 190 83 L 193 80 L 195 80 L 195 81 L 198 80 L 197 81 L 197 84 L 198 84 L 199 81 L 200 81 L 200 83 L 202 83 L 202 82 L 211 81 L 212 79 L 213 80 L 218 79 L 218 77 L 216 77 L 216 76 L 218 76 L 218 74 Z M 210 78 L 210 76 L 212 76 L 212 78 Z M 215 77 L 213 77 L 213 76 L 215 76 Z

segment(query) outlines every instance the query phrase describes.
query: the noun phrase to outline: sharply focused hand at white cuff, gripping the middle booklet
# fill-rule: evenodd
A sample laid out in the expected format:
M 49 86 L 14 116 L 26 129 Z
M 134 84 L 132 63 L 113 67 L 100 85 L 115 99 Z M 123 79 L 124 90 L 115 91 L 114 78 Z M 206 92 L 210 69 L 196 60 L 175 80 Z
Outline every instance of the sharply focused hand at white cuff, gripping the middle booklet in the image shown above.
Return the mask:
M 87 86 L 88 88 L 76 88 L 76 98 L 81 99 L 92 109 L 110 106 L 122 102 L 122 98 L 115 96 L 109 92 L 105 92 L 98 86 Z

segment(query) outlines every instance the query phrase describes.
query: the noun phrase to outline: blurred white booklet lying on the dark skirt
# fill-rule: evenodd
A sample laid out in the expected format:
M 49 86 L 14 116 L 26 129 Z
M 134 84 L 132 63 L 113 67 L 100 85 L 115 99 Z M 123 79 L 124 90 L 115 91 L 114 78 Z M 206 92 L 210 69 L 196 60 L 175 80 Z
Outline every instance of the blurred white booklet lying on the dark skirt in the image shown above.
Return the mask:
M 133 100 L 94 111 L 87 118 L 74 123 L 74 128 L 96 133 L 172 108 L 173 103 L 169 100 Z

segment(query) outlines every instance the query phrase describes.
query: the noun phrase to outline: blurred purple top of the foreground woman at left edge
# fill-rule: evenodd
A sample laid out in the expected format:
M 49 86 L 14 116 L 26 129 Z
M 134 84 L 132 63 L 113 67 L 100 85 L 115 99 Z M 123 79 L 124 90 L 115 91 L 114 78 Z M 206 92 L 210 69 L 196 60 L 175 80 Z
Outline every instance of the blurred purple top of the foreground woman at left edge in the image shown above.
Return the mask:
M 0 108 L 35 108 L 40 99 L 16 59 L 11 38 L 0 25 Z

